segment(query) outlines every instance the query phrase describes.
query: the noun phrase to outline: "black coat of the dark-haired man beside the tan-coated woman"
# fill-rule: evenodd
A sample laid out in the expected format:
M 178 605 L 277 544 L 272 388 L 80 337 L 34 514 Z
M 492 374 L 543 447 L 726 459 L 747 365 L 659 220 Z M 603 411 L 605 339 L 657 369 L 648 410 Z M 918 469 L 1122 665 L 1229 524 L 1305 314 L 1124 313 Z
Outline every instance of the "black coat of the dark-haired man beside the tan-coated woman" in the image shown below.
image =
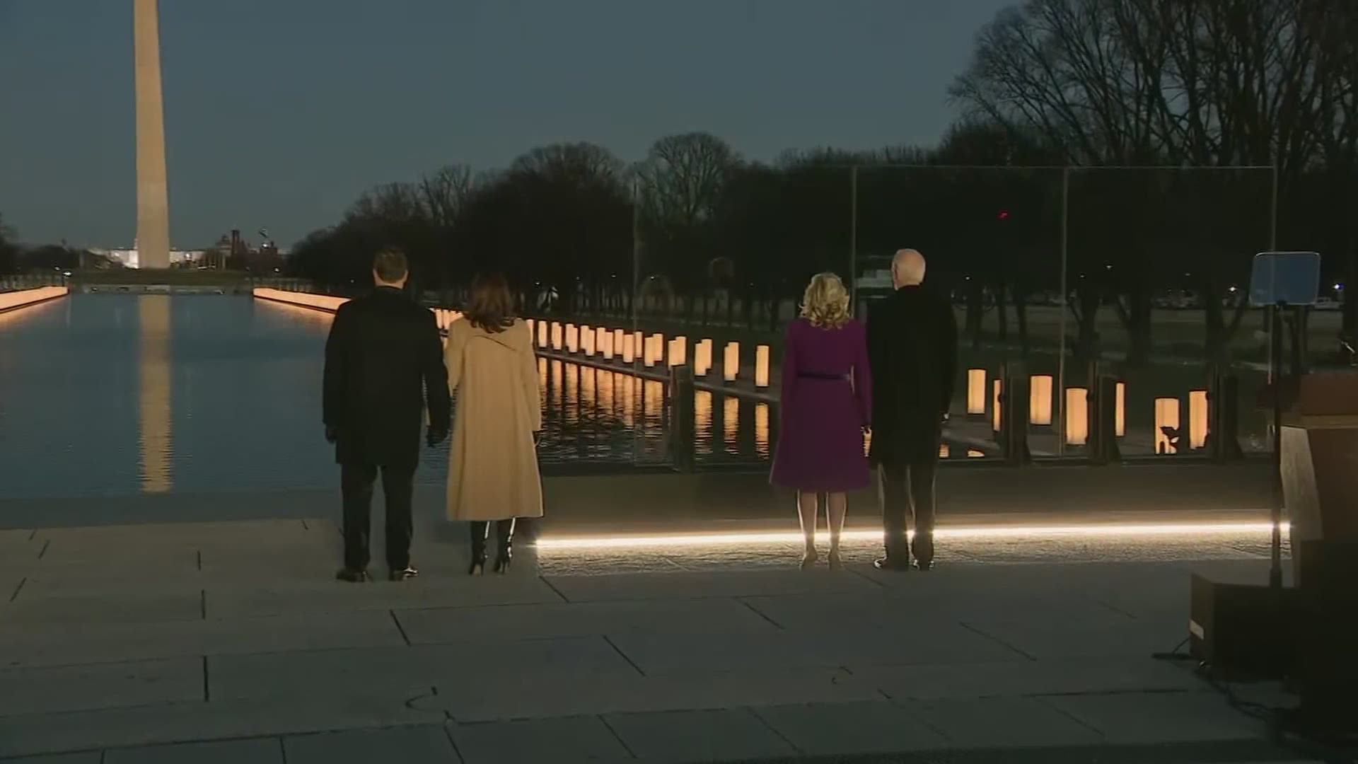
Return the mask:
M 326 341 L 323 401 L 335 461 L 414 466 L 425 401 L 430 427 L 447 431 L 448 371 L 433 313 L 391 287 L 340 306 Z

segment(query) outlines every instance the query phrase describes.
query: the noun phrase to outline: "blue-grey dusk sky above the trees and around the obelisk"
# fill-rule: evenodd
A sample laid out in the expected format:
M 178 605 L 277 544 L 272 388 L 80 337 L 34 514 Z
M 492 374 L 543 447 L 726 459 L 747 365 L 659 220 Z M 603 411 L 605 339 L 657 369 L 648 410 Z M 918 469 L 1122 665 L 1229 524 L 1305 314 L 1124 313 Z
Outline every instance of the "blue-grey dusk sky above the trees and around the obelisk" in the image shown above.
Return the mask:
M 1013 0 L 162 0 L 171 241 L 284 246 L 368 186 L 709 131 L 744 156 L 932 144 Z M 0 215 L 136 230 L 132 0 L 0 0 Z

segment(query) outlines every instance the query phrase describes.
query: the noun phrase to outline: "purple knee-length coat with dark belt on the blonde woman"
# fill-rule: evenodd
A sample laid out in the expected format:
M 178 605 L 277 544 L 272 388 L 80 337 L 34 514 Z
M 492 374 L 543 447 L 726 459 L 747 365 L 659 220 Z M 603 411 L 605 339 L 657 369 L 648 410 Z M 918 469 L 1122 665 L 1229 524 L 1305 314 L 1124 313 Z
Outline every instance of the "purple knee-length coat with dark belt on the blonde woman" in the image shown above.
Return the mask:
M 782 431 L 773 484 L 816 493 L 870 484 L 864 427 L 872 423 L 872 372 L 862 324 L 788 326 L 782 356 Z

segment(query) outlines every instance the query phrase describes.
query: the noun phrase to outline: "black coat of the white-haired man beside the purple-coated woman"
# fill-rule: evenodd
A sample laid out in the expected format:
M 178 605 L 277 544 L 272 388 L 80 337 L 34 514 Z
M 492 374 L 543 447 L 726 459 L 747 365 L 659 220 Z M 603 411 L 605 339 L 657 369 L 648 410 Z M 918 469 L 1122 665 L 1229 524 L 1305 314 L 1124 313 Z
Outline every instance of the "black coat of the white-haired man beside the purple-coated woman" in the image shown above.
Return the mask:
M 948 300 L 902 287 L 868 317 L 872 464 L 938 457 L 942 417 L 957 377 L 957 319 Z

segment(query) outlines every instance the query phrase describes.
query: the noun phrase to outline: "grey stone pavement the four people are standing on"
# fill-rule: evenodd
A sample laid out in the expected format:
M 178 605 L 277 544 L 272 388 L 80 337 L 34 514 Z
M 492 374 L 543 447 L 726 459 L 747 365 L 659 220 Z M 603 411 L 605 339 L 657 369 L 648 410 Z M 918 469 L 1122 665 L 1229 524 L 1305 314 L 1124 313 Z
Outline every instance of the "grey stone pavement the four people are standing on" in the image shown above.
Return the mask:
M 1258 538 L 959 540 L 889 575 L 864 544 L 834 572 L 524 551 L 474 579 L 429 537 L 420 579 L 342 585 L 329 521 L 0 532 L 0 760 L 1304 759 L 1150 658 L 1190 570 L 1263 579 Z

